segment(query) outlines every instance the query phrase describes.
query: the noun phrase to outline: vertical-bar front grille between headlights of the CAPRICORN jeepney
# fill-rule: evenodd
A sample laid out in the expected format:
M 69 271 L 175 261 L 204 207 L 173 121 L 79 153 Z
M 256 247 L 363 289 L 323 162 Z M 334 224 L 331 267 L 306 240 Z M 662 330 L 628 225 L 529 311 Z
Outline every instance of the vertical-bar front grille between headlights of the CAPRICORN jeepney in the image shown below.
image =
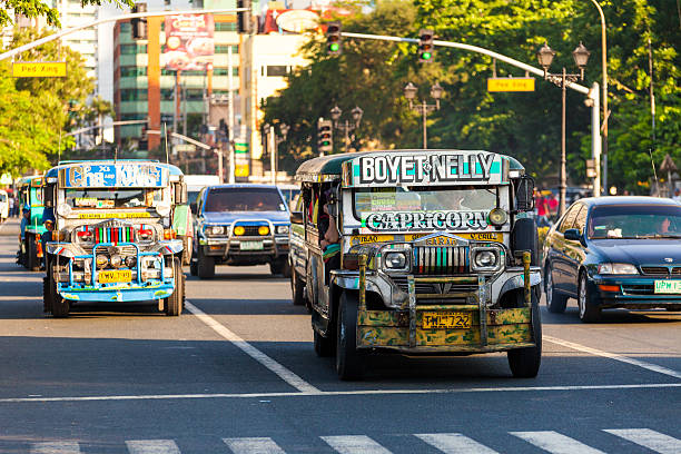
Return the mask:
M 467 246 L 415 246 L 415 275 L 452 275 L 468 273 Z

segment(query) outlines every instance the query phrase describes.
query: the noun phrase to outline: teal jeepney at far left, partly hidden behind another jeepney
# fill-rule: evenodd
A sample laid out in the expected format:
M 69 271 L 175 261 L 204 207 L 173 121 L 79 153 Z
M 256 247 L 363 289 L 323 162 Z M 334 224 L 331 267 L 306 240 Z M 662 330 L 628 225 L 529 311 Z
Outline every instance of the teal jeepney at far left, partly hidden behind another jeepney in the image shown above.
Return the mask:
M 45 234 L 42 225 L 42 191 L 45 179 L 42 176 L 23 177 L 17 184 L 19 193 L 19 216 L 21 227 L 19 231 L 19 251 L 17 263 L 37 272 L 40 268 L 43 250 L 40 238 Z

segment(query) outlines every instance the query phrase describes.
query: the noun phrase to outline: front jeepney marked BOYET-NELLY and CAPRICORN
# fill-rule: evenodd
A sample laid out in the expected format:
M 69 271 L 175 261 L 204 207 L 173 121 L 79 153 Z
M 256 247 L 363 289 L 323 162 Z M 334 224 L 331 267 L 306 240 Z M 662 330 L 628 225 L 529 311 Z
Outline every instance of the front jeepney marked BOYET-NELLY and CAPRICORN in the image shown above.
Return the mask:
M 534 185 L 517 160 L 357 152 L 306 161 L 296 179 L 304 201 L 292 221 L 305 227 L 305 264 L 294 268 L 294 299 L 309 304 L 315 352 L 336 356 L 342 379 L 382 351 L 507 352 L 514 376 L 537 374 Z

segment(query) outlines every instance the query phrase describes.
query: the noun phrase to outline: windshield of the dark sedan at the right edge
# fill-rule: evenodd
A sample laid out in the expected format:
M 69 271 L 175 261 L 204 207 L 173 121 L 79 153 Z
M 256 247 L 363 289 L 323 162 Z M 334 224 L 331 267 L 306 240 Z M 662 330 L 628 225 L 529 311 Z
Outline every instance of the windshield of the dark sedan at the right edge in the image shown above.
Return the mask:
M 620 205 L 595 207 L 588 234 L 600 238 L 681 238 L 681 206 Z

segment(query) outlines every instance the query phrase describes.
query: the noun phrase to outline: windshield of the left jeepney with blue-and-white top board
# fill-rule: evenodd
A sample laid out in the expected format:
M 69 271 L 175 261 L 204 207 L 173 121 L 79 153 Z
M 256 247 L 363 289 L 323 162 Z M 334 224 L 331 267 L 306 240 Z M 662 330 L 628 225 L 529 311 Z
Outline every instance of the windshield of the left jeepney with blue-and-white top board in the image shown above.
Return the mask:
M 73 209 L 151 208 L 164 198 L 158 188 L 65 189 Z

